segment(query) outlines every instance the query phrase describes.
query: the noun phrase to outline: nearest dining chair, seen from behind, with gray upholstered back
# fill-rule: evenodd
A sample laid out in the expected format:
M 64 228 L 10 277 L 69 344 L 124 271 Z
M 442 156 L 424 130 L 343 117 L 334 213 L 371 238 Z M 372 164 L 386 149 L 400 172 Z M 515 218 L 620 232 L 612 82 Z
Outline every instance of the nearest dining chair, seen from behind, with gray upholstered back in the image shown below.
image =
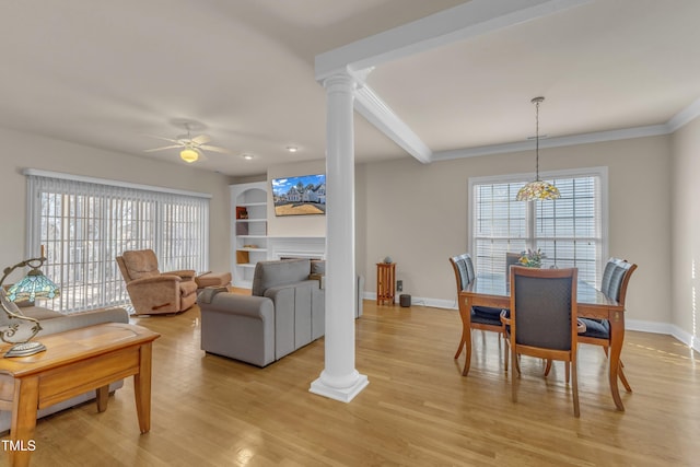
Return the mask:
M 511 349 L 512 399 L 517 401 L 520 355 L 563 361 L 571 366 L 573 412 L 580 416 L 576 371 L 576 268 L 513 266 L 510 317 L 502 315 Z

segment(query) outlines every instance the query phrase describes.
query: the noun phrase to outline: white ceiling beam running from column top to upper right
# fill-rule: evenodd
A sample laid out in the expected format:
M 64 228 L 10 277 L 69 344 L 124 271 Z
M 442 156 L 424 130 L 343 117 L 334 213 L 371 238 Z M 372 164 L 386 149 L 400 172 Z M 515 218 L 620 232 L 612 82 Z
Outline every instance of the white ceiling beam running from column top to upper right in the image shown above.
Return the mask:
M 547 16 L 592 0 L 471 0 L 317 55 L 316 80 L 360 71 L 457 40 Z

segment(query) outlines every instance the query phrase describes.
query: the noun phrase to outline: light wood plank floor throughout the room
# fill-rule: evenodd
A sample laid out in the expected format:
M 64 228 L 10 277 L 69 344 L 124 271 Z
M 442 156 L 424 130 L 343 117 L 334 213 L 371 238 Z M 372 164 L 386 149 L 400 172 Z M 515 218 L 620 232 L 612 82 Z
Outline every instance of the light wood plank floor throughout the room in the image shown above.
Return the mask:
M 197 307 L 133 322 L 162 334 L 151 432 L 139 435 L 129 378 L 103 413 L 90 404 L 40 420 L 34 466 L 700 465 L 698 355 L 667 336 L 627 332 L 623 413 L 603 350 L 582 346 L 576 419 L 561 363 L 545 380 L 524 359 L 513 404 L 490 332 L 460 376 L 455 311 L 365 301 L 355 367 L 370 385 L 350 404 L 308 392 L 323 339 L 257 369 L 199 349 Z

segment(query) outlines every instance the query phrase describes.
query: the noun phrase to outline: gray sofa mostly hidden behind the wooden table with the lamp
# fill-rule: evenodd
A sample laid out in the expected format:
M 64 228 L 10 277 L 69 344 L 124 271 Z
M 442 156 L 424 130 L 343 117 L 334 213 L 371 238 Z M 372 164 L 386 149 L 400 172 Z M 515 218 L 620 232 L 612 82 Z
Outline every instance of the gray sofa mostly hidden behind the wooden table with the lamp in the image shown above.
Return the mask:
M 25 316 L 31 316 L 39 320 L 42 330 L 34 338 L 34 340 L 42 340 L 42 336 L 49 334 L 62 332 L 70 329 L 77 329 L 81 327 L 92 326 L 101 323 L 129 323 L 129 313 L 119 307 L 114 308 L 100 308 L 90 312 L 73 313 L 70 315 L 63 315 L 58 312 L 50 311 L 40 306 L 21 306 L 21 312 Z M 7 325 L 7 315 L 0 312 L 0 327 Z M 0 357 L 1 358 L 1 357 Z M 109 390 L 114 392 L 120 388 L 124 382 L 118 381 L 109 385 Z M 55 413 L 59 410 L 67 409 L 69 407 L 82 404 L 84 401 L 95 398 L 95 392 L 75 396 L 71 399 L 56 404 L 50 407 L 46 407 L 37 412 L 37 418 L 46 417 Z M 12 422 L 12 413 L 7 410 L 0 411 L 0 433 L 10 430 Z

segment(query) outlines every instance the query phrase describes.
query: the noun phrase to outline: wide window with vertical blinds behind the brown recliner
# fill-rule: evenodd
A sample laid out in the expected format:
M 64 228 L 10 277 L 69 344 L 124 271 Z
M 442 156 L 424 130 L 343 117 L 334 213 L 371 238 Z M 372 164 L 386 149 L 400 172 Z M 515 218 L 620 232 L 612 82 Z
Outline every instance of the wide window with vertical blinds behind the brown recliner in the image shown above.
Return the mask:
M 115 260 L 127 249 L 153 249 L 163 271 L 207 270 L 209 195 L 25 174 L 28 253 L 46 246 L 44 272 L 61 290 L 46 306 L 71 312 L 129 303 Z

